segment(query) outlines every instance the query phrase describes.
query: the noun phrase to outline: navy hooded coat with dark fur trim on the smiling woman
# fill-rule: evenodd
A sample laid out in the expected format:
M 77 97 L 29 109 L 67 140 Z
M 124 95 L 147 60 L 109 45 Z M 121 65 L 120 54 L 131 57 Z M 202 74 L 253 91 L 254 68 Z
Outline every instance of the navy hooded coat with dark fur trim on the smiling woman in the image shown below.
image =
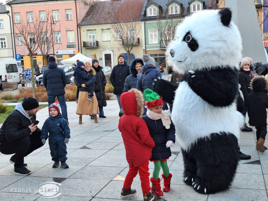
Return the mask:
M 137 63 L 140 63 L 143 66 L 143 61 L 141 58 L 136 58 L 131 62 L 130 66 L 129 66 L 129 70 L 130 70 L 131 75 L 126 77 L 123 92 L 126 92 L 126 91 L 130 90 L 131 88 L 137 87 L 138 71 L 135 68 Z

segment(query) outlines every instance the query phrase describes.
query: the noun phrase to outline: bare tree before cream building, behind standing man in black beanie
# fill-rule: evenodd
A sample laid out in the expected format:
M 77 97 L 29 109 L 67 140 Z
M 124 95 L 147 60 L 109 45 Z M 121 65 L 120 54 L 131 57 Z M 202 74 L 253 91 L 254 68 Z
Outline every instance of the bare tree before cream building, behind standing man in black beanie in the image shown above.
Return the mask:
M 124 11 L 127 15 L 122 15 L 117 12 L 117 9 L 116 6 L 113 6 L 114 18 L 111 24 L 111 35 L 128 53 L 128 62 L 130 64 L 130 52 L 133 49 L 133 45 L 139 44 L 137 35 L 140 33 L 141 23 L 137 20 L 136 13 L 133 12 L 133 9 L 131 10 L 131 7 Z

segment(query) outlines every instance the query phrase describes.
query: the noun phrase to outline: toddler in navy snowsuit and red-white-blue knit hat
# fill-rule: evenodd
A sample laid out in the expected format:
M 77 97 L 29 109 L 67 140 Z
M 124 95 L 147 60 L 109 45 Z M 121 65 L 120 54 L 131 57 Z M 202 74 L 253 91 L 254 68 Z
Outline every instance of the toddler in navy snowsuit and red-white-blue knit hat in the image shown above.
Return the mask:
M 52 103 L 49 106 L 49 118 L 44 122 L 40 139 L 45 144 L 45 139 L 49 133 L 50 154 L 52 161 L 54 161 L 52 167 L 57 168 L 60 161 L 62 168 L 69 168 L 65 161 L 67 160 L 66 144 L 69 142 L 70 128 L 59 109 L 59 102 Z

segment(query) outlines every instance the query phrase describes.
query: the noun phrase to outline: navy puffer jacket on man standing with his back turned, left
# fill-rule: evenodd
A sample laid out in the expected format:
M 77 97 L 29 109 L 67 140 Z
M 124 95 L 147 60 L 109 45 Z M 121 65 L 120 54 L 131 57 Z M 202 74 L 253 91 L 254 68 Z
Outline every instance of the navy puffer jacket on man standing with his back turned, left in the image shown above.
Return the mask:
M 54 61 L 49 62 L 43 73 L 43 84 L 48 96 L 65 94 L 66 76 L 63 69 L 58 68 Z

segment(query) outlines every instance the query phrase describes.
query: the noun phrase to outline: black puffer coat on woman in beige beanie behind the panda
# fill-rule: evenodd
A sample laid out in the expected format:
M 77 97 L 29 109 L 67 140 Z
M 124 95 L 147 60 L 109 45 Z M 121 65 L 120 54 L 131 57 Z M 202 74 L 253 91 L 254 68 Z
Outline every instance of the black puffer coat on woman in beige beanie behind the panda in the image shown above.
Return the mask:
M 238 75 L 239 75 L 238 83 L 241 85 L 240 90 L 243 93 L 244 101 L 246 101 L 248 98 L 248 94 L 252 92 L 250 88 L 250 81 L 251 81 L 250 71 L 240 69 Z

